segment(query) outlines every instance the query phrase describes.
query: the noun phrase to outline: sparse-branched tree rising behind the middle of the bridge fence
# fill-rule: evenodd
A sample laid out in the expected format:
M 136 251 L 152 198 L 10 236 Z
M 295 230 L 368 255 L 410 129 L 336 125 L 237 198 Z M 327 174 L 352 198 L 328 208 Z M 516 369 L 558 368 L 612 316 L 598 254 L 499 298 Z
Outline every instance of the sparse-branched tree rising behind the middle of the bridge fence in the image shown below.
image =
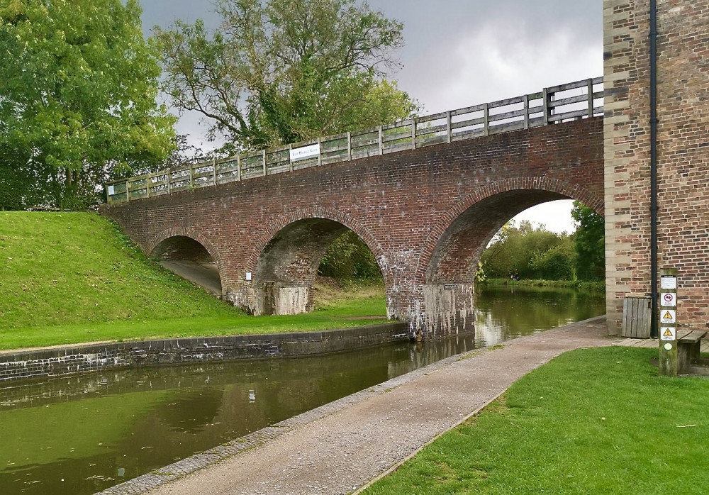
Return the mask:
M 164 92 L 225 151 L 369 128 L 417 109 L 388 81 L 402 25 L 354 0 L 217 0 L 220 29 L 156 28 Z

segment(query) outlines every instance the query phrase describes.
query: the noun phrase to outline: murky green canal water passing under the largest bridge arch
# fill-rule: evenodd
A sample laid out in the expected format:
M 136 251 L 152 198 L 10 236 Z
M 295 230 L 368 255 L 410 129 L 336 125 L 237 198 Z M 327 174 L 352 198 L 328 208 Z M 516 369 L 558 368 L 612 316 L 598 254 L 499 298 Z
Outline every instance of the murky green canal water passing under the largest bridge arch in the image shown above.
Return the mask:
M 476 333 L 318 357 L 0 386 L 0 494 L 93 494 L 476 347 L 598 316 L 602 294 L 482 289 Z

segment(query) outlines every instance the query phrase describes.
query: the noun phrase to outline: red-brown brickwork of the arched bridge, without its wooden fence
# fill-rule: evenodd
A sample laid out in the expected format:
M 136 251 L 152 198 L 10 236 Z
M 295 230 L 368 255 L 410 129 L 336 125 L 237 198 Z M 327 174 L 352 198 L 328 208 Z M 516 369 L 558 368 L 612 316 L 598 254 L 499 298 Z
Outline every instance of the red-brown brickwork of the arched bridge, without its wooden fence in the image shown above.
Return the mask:
M 572 198 L 603 211 L 603 119 L 561 123 L 106 206 L 148 254 L 176 235 L 218 266 L 223 297 L 307 311 L 345 228 L 379 262 L 389 317 L 428 333 L 471 323 L 471 267 L 515 214 Z M 247 273 L 252 275 L 247 280 Z

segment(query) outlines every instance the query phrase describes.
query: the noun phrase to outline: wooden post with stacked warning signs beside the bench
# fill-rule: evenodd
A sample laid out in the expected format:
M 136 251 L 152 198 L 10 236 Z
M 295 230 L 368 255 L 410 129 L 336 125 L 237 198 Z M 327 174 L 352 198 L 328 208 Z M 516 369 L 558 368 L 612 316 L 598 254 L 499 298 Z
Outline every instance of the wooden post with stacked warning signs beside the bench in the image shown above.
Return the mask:
M 677 269 L 660 271 L 660 376 L 677 376 Z

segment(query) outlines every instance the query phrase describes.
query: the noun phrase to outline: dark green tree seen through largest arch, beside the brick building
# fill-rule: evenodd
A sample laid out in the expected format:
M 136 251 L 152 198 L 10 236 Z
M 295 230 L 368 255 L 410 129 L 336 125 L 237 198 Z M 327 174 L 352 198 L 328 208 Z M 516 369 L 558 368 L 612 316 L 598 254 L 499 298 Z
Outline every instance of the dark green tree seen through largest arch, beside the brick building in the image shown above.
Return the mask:
M 576 223 L 574 250 L 576 276 L 581 280 L 605 278 L 605 222 L 588 206 L 574 201 L 571 217 Z

